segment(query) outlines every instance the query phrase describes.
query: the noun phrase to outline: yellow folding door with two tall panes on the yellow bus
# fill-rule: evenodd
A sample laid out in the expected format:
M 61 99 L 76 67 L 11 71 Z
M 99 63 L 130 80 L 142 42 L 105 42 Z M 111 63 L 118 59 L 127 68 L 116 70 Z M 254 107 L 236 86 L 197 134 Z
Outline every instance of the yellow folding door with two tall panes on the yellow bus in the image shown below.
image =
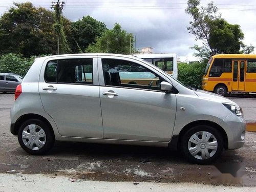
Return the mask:
M 245 89 L 245 61 L 233 60 L 233 82 L 232 91 L 244 91 Z

